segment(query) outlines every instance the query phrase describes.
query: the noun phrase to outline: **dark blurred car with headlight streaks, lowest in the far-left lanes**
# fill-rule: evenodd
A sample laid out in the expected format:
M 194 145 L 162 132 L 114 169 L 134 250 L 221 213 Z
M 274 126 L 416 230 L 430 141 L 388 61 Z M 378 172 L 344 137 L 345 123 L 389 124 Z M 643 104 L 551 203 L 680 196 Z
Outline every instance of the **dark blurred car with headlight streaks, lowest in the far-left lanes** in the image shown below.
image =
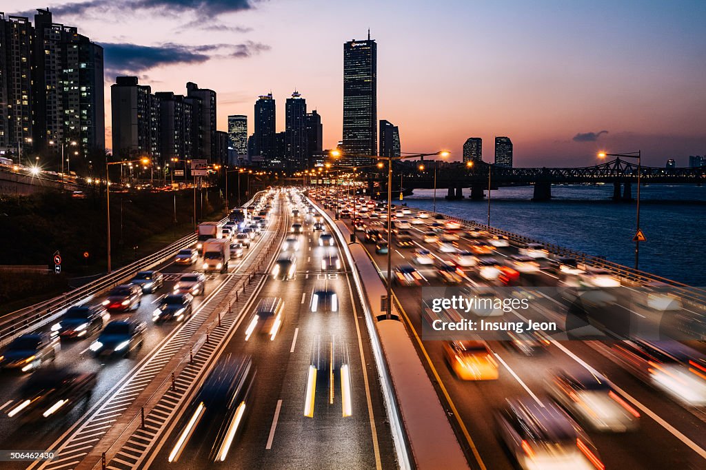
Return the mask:
M 40 421 L 68 412 L 96 385 L 93 372 L 74 372 L 67 368 L 38 370 L 20 387 L 18 399 L 6 405 L 8 418 Z

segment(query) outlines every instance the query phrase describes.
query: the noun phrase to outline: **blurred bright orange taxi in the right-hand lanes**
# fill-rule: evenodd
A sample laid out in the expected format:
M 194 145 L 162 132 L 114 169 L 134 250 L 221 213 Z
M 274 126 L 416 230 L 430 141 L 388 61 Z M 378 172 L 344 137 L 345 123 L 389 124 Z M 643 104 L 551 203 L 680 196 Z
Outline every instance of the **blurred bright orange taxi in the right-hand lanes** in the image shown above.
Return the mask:
M 497 380 L 498 363 L 484 341 L 449 341 L 444 358 L 461 380 Z

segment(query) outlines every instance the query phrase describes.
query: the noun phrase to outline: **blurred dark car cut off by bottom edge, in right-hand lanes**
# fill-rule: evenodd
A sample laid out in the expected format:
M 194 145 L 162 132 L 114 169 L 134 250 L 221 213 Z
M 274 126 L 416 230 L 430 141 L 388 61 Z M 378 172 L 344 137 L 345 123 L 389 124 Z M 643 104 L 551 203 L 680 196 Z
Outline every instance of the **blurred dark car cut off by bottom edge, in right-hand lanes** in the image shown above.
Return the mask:
M 585 431 L 549 400 L 508 399 L 496 432 L 520 469 L 604 469 Z

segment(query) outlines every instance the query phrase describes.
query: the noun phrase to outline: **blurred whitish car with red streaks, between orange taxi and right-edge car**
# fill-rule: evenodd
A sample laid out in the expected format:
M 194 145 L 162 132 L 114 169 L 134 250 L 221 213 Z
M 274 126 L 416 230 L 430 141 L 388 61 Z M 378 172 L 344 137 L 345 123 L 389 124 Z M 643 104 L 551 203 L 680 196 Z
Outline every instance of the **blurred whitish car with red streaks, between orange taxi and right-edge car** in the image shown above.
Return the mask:
M 603 375 L 562 370 L 546 383 L 549 396 L 574 418 L 597 431 L 623 433 L 640 426 L 640 414 Z

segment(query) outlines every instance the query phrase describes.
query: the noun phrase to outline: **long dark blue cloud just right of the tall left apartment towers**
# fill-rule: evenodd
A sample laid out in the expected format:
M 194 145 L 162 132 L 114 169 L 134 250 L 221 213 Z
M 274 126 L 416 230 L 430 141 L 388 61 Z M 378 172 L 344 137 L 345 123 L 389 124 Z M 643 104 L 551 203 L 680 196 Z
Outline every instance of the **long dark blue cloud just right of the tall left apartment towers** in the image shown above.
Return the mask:
M 242 59 L 268 51 L 270 46 L 247 41 L 242 44 L 186 46 L 167 42 L 158 46 L 102 42 L 108 76 L 135 75 L 150 68 L 174 64 L 201 64 L 215 57 Z

